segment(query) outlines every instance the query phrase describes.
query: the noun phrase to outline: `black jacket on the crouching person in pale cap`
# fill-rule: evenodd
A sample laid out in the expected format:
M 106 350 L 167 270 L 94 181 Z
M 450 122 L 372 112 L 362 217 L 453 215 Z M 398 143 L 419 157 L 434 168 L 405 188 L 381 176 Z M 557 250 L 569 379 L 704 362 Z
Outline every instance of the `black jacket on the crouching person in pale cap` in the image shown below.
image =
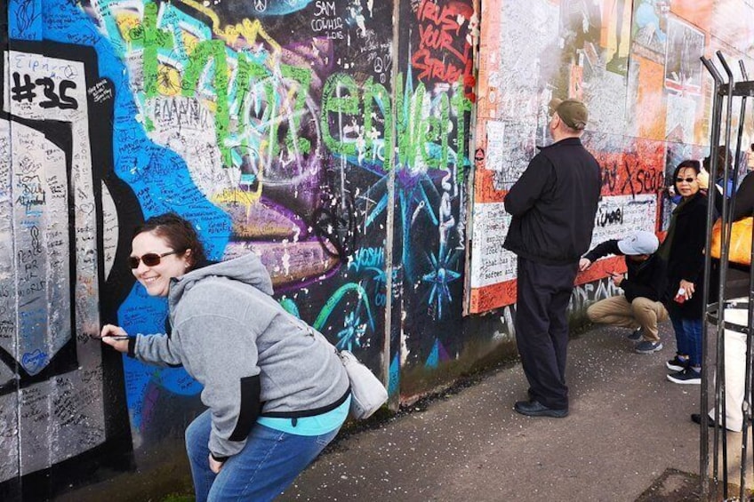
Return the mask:
M 618 248 L 618 241 L 611 239 L 598 244 L 593 250 L 584 255 L 584 258 L 594 263 L 609 254 L 625 256 Z M 660 301 L 665 293 L 668 281 L 668 268 L 665 265 L 665 261 L 657 253 L 654 253 L 645 261 L 634 261 L 629 257 L 626 257 L 625 260 L 628 273 L 619 285 L 626 299 L 633 301 L 638 297 L 643 297 Z

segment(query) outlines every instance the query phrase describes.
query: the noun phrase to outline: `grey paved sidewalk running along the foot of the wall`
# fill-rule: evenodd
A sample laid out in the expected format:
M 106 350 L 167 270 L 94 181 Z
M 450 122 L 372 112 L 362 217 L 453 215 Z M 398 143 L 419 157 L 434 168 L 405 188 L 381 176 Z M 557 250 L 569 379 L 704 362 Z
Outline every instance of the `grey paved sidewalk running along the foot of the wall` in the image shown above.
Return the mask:
M 665 378 L 670 323 L 653 355 L 634 353 L 628 333 L 571 341 L 567 418 L 517 414 L 527 385 L 511 364 L 337 440 L 280 500 L 694 500 L 700 386 Z

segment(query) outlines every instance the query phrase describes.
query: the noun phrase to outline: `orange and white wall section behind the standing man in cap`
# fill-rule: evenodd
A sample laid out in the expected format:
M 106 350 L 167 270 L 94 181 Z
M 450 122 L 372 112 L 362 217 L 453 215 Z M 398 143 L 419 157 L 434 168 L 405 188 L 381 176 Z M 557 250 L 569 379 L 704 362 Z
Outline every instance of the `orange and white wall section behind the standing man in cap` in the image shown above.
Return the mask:
M 700 57 L 721 51 L 751 71 L 753 9 L 737 0 L 482 4 L 470 312 L 516 300 L 516 257 L 501 249 L 502 201 L 535 147 L 551 140 L 552 98 L 590 109 L 582 140 L 603 179 L 592 245 L 633 229 L 662 235 L 672 208 L 666 178 L 681 160 L 709 153 L 711 79 Z M 744 152 L 752 132 L 746 124 Z M 577 283 L 621 267 L 600 260 Z

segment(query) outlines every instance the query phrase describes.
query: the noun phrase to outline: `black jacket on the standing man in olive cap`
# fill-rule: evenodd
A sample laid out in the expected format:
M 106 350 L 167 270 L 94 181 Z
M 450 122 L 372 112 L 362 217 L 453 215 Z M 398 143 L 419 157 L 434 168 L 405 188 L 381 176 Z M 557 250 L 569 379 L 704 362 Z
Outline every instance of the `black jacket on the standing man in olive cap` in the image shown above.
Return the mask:
M 513 219 L 503 247 L 546 265 L 577 262 L 589 249 L 601 184 L 581 139 L 542 147 L 505 195 Z

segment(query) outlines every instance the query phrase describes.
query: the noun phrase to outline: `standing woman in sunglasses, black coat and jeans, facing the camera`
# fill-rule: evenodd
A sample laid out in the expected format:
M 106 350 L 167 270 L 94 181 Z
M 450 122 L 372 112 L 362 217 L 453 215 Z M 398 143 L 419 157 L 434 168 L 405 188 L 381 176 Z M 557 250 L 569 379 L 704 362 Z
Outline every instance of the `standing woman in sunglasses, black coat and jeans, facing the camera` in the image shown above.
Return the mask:
M 678 384 L 702 383 L 702 287 L 707 228 L 707 197 L 700 191 L 699 162 L 685 160 L 673 171 L 676 193 L 665 241 L 657 251 L 668 264 L 665 303 L 676 332 L 677 353 L 667 367 Z

